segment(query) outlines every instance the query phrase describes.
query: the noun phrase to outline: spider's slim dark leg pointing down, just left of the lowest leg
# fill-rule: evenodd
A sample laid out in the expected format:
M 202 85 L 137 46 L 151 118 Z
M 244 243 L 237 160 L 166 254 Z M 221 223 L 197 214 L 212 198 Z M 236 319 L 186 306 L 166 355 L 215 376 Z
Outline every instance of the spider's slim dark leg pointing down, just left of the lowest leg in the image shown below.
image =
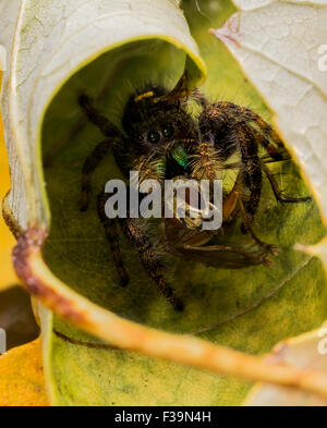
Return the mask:
M 98 195 L 98 216 L 105 229 L 108 243 L 110 245 L 117 273 L 119 274 L 119 279 L 120 279 L 120 285 L 126 286 L 130 279 L 126 269 L 124 267 L 123 260 L 121 258 L 117 223 L 116 220 L 109 219 L 105 212 L 105 205 L 107 199 L 108 199 L 108 195 L 106 193 L 100 193 Z

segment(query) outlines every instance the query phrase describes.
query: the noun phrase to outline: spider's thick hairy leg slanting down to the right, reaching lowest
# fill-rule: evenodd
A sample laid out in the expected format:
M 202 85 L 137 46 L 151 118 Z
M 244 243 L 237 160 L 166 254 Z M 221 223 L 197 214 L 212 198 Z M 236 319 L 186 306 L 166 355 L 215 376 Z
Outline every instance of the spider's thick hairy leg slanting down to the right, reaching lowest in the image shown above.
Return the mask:
M 174 291 L 165 278 L 164 267 L 158 259 L 157 253 L 149 237 L 133 219 L 119 219 L 119 222 L 123 233 L 137 250 L 148 276 L 158 285 L 160 293 L 175 310 L 183 310 L 182 302 L 175 296 Z

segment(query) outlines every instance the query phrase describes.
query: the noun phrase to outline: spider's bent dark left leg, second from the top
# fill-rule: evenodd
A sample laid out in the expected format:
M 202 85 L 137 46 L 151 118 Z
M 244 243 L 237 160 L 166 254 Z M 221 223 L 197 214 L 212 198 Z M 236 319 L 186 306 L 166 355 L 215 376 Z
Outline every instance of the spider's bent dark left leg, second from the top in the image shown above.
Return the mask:
M 107 138 L 96 146 L 93 152 L 86 158 L 82 169 L 82 198 L 81 211 L 86 211 L 88 208 L 88 196 L 90 192 L 90 178 L 100 161 L 105 158 L 108 151 L 113 147 L 116 138 Z

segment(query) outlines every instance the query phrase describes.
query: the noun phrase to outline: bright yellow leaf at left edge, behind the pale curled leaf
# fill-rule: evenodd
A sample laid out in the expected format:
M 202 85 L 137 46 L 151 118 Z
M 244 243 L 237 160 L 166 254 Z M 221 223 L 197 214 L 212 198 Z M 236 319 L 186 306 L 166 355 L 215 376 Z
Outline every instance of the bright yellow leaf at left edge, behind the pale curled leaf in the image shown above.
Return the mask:
M 0 74 L 1 82 L 1 74 Z M 0 198 L 2 199 L 10 188 L 9 167 L 3 138 L 2 121 L 0 117 Z M 0 216 L 0 291 L 19 282 L 11 262 L 11 249 L 15 240 Z

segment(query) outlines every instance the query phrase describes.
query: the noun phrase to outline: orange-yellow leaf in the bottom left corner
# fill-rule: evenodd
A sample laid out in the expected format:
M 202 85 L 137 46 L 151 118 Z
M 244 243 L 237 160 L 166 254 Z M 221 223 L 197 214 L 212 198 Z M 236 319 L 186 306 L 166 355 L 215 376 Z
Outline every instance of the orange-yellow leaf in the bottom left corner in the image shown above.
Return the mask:
M 0 406 L 47 406 L 40 339 L 0 356 Z

